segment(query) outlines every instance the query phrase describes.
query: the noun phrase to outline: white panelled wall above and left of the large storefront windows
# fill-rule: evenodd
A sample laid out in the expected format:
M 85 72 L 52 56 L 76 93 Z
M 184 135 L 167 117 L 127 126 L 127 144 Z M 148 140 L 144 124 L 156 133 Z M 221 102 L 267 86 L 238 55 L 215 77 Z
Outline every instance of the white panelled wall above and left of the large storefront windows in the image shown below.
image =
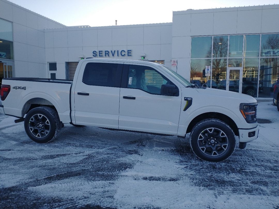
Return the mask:
M 279 5 L 175 11 L 172 21 L 172 59 L 190 79 L 191 36 L 278 33 Z

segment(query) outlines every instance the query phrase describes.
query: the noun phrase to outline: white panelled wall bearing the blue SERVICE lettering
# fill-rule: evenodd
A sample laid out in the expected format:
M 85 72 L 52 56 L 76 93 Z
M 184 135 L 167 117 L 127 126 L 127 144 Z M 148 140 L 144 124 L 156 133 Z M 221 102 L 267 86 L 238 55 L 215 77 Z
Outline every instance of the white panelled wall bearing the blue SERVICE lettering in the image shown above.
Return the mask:
M 172 23 L 104 27 L 48 29 L 45 32 L 45 62 L 56 62 L 56 78 L 65 79 L 65 62 L 78 62 L 80 55 L 93 51 L 125 50 L 125 56 L 103 57 L 138 60 L 165 60 L 171 65 Z M 132 56 L 127 56 L 132 50 Z

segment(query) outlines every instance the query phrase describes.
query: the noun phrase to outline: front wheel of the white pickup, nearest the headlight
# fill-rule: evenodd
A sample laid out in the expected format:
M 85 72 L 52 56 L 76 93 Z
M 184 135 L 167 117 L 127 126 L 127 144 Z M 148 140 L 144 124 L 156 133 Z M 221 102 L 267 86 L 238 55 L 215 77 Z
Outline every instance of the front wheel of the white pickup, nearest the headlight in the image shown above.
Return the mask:
M 190 134 L 193 152 L 205 161 L 224 161 L 234 152 L 233 130 L 221 120 L 206 119 L 197 123 Z

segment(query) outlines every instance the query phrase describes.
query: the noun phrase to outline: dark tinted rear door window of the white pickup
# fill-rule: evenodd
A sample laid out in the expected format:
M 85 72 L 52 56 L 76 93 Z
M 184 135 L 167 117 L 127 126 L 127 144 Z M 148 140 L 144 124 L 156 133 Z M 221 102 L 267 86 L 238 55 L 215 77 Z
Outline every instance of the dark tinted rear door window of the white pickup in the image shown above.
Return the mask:
M 91 86 L 120 87 L 117 81 L 117 68 L 118 64 L 87 63 L 82 82 Z

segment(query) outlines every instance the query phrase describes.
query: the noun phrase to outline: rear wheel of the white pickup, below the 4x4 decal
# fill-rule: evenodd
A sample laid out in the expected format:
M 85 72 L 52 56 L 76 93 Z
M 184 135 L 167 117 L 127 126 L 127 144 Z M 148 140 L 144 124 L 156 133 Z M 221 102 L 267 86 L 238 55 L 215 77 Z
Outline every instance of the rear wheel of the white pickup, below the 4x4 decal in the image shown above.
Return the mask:
M 50 107 L 36 107 L 27 113 L 24 128 L 34 142 L 49 142 L 55 139 L 61 130 L 58 113 Z

